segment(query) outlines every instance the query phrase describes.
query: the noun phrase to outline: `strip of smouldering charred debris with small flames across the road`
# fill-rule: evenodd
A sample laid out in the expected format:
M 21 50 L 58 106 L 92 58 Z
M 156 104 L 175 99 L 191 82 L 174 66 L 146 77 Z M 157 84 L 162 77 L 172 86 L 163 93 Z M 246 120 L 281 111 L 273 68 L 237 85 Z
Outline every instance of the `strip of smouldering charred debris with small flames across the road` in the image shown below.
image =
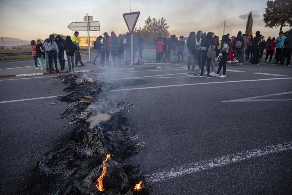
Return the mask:
M 69 141 L 47 152 L 39 162 L 41 175 L 57 175 L 55 194 L 149 194 L 139 168 L 124 163 L 145 147 L 126 126 L 120 113 L 124 102 L 113 102 L 107 92 L 114 85 L 81 74 L 58 77 L 69 84 L 62 102 L 71 103 L 61 118 L 79 128 Z

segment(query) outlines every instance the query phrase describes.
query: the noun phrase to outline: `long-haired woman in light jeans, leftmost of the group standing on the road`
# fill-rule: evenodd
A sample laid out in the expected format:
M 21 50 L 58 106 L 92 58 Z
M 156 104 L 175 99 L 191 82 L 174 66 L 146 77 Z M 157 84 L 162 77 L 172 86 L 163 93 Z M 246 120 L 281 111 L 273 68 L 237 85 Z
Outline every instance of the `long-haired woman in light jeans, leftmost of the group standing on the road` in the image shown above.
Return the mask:
M 187 38 L 187 50 L 190 54 L 187 61 L 187 73 L 189 75 L 197 75 L 196 73 L 194 73 L 194 69 L 197 63 L 195 37 L 196 37 L 196 33 L 190 32 L 189 37 Z M 192 72 L 191 72 L 191 63 L 193 63 Z

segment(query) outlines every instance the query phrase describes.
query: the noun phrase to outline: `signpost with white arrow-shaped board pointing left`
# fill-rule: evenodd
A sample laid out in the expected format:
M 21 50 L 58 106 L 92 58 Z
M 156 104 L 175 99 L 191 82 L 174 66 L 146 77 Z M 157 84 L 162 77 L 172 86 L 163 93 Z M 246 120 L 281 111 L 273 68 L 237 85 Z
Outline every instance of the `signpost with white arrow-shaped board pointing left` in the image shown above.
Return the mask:
M 86 13 L 86 16 L 84 16 L 83 19 L 86 22 L 72 22 L 71 24 L 68 25 L 68 28 L 72 31 L 87 31 L 88 55 L 89 55 L 89 61 L 91 62 L 89 31 L 99 31 L 100 30 L 99 22 L 89 22 L 93 20 L 93 16 L 88 16 L 88 13 Z

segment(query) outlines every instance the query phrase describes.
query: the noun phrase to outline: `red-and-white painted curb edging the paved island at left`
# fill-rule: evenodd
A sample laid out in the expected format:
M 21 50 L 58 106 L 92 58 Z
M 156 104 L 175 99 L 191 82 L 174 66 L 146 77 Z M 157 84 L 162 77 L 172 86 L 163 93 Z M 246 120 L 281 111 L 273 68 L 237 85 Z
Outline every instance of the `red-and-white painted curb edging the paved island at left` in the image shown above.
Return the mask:
M 161 69 L 161 66 L 155 67 L 137 67 L 137 68 L 114 68 L 114 71 L 122 71 L 122 70 L 149 70 L 149 69 Z M 103 70 L 76 70 L 75 73 L 104 73 L 107 72 L 108 69 Z M 39 75 L 56 75 L 56 74 L 68 74 L 68 72 L 53 72 L 53 73 L 29 73 L 29 74 L 20 74 L 20 75 L 2 75 L 0 78 L 6 77 L 30 77 L 30 76 L 39 76 Z

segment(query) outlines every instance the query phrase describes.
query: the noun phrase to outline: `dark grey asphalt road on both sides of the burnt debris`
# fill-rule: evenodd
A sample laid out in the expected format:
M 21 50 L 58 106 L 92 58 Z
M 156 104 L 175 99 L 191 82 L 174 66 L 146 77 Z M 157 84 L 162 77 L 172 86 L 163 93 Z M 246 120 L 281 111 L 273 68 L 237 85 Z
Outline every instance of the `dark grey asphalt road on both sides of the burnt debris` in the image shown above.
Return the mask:
M 152 52 L 145 52 L 144 58 L 153 61 Z M 292 150 L 274 147 L 267 153 L 265 148 L 292 141 L 291 67 L 228 64 L 231 71 L 222 79 L 188 76 L 185 64 L 91 75 L 119 86 L 110 92 L 112 100 L 135 105 L 122 112 L 147 144 L 126 163 L 140 165 L 151 194 L 291 194 Z M 63 88 L 52 77 L 1 80 L 0 101 L 63 95 Z M 249 97 L 255 98 L 230 101 Z M 58 119 L 69 106 L 59 103 L 58 98 L 0 103 L 1 194 L 27 194 L 32 186 L 33 194 L 54 189 L 53 180 L 38 177 L 33 169 L 46 151 L 74 130 L 68 120 Z M 147 176 L 172 168 L 179 173 L 226 155 L 248 156 L 252 149 L 258 153 L 246 160 L 231 159 L 226 165 L 181 176 L 173 173 L 160 181 Z

